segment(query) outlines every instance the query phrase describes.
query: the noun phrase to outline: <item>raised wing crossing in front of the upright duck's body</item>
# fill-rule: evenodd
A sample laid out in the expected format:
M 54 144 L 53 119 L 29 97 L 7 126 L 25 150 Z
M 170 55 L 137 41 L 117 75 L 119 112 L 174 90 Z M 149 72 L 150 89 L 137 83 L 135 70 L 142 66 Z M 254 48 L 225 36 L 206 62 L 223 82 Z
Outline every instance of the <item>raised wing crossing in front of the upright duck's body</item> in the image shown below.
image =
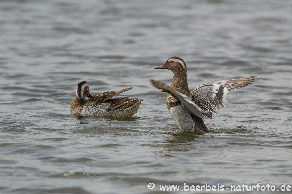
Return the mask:
M 183 105 L 200 118 L 209 117 L 210 114 L 216 114 L 216 107 L 204 99 L 200 94 L 194 94 L 193 99 L 188 98 L 186 95 L 174 90 L 169 86 L 165 86 L 163 83 L 155 80 L 151 80 L 154 87 L 158 88 L 161 92 L 167 92 L 170 95 L 176 97 Z M 211 117 L 212 118 L 212 115 Z

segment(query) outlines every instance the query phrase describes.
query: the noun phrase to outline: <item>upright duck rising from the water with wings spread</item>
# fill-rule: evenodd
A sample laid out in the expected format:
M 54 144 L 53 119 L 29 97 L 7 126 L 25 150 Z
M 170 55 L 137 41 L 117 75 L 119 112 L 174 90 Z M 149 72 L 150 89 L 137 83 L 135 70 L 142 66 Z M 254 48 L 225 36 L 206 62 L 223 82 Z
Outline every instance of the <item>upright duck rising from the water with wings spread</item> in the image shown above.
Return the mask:
M 224 106 L 229 91 L 251 84 L 256 77 L 201 83 L 191 92 L 187 82 L 187 65 L 182 58 L 173 56 L 154 69 L 168 69 L 173 72 L 171 87 L 153 79 L 151 82 L 161 92 L 168 93 L 168 111 L 184 133 L 210 131 L 204 118 L 212 119 L 212 115 L 217 114 L 217 109 Z

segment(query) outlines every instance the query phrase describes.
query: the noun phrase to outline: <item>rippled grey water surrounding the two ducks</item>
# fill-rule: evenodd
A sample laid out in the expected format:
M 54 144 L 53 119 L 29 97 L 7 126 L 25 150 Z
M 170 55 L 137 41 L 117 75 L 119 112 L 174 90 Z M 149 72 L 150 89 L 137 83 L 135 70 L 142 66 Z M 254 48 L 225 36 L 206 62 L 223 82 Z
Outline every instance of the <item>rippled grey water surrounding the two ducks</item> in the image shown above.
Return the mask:
M 281 0 L 0 1 L 0 193 L 291 185 L 291 6 Z M 226 107 L 205 120 L 212 133 L 183 134 L 166 94 L 149 82 L 171 84 L 169 70 L 154 70 L 171 56 L 185 60 L 191 89 L 217 79 L 257 80 L 230 92 Z M 144 101 L 130 119 L 72 116 L 83 80 L 92 94 L 133 87 L 123 95 Z

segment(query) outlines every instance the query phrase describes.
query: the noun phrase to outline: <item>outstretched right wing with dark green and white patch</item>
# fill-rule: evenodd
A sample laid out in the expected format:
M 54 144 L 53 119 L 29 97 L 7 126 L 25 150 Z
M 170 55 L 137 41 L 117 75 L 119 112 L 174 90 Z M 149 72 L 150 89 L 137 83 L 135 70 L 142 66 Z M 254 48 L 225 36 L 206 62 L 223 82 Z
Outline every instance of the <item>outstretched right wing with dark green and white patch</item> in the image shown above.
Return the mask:
M 250 76 L 240 79 L 219 80 L 201 83 L 191 93 L 192 95 L 196 93 L 201 94 L 214 106 L 216 106 L 218 110 L 220 110 L 220 106 L 224 106 L 224 103 L 226 102 L 226 96 L 229 91 L 243 88 L 251 84 L 255 80 L 255 77 L 256 76 Z

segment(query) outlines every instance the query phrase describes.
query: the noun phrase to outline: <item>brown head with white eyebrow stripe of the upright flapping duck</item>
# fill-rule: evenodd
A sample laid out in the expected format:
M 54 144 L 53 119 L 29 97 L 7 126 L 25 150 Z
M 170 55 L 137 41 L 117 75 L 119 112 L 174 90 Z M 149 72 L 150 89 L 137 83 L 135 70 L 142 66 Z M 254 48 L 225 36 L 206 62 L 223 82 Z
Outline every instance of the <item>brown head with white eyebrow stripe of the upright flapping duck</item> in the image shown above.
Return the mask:
M 187 76 L 187 65 L 185 64 L 185 61 L 182 58 L 176 56 L 169 58 L 163 65 L 155 67 L 154 69 L 169 69 L 176 76 Z

